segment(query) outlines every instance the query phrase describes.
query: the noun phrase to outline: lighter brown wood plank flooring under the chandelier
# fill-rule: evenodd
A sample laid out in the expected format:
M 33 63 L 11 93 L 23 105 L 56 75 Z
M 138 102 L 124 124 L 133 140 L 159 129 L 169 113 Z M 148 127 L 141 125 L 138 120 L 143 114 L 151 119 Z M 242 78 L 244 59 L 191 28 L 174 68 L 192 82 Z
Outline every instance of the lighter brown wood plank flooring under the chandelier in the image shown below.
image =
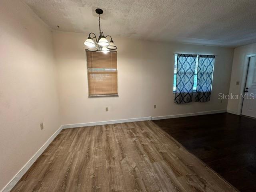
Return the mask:
M 235 192 L 152 121 L 62 130 L 12 192 Z

